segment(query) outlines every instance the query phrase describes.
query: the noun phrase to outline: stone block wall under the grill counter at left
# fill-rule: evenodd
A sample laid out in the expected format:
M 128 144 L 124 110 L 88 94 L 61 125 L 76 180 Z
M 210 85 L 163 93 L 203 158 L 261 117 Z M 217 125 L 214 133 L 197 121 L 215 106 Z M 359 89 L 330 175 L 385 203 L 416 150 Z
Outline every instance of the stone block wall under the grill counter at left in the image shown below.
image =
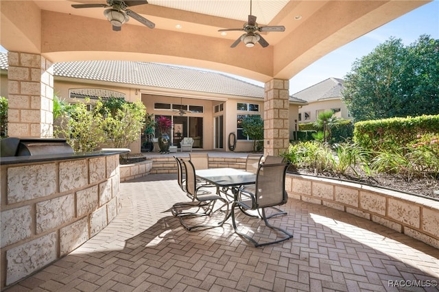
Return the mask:
M 1 289 L 75 250 L 120 208 L 119 155 L 1 165 Z

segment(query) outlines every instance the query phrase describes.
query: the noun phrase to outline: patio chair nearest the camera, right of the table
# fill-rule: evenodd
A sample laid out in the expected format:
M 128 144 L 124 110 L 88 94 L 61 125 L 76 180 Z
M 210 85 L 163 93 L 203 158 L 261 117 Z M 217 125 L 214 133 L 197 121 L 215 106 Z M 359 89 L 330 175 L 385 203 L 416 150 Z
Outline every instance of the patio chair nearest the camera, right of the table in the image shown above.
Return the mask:
M 231 217 L 235 232 L 239 236 L 248 239 L 248 241 L 253 243 L 255 247 L 280 243 L 293 237 L 293 234 L 289 233 L 287 230 L 271 225 L 268 222 L 268 217 L 265 216 L 265 208 L 283 205 L 287 202 L 288 194 L 285 191 L 285 173 L 287 171 L 287 167 L 287 163 L 260 165 L 257 171 L 254 192 L 249 191 L 248 188 L 239 188 L 237 199 L 232 204 Z M 240 232 L 237 228 L 235 207 L 239 207 L 239 210 L 242 208 L 244 211 L 261 209 L 261 217 L 265 223 L 265 226 L 283 234 L 283 237 L 275 241 L 261 243 L 253 239 L 248 234 Z M 255 233 L 257 232 L 261 232 L 261 234 L 265 233 L 263 228 L 259 228 L 259 226 L 257 227 Z

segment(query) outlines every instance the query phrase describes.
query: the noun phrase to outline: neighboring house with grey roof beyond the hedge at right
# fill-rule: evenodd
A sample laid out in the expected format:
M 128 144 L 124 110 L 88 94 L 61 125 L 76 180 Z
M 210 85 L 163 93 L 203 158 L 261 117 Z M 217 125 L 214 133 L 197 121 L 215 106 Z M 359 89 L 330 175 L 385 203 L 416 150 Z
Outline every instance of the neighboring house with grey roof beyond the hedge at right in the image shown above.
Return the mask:
M 307 101 L 307 105 L 299 108 L 298 123 L 313 123 L 318 114 L 326 110 L 333 110 L 336 117 L 351 119 L 342 101 L 343 82 L 331 77 L 294 93 L 293 97 Z

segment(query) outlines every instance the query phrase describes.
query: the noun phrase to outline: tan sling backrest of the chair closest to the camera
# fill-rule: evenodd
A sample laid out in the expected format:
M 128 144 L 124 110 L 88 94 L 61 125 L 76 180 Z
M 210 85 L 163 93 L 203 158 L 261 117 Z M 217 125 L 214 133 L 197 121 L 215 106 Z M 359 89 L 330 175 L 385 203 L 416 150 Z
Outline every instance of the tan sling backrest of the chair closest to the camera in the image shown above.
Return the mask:
M 265 208 L 283 205 L 287 202 L 288 194 L 285 191 L 285 173 L 288 163 L 259 165 L 256 174 L 255 206 Z

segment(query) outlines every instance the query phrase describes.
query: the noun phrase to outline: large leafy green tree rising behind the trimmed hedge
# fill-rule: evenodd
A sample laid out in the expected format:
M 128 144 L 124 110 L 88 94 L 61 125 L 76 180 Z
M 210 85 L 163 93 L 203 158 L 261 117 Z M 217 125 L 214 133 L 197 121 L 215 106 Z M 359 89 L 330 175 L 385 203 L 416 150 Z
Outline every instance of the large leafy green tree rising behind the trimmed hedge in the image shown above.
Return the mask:
M 390 38 L 357 59 L 342 99 L 355 121 L 439 113 L 439 40 Z

